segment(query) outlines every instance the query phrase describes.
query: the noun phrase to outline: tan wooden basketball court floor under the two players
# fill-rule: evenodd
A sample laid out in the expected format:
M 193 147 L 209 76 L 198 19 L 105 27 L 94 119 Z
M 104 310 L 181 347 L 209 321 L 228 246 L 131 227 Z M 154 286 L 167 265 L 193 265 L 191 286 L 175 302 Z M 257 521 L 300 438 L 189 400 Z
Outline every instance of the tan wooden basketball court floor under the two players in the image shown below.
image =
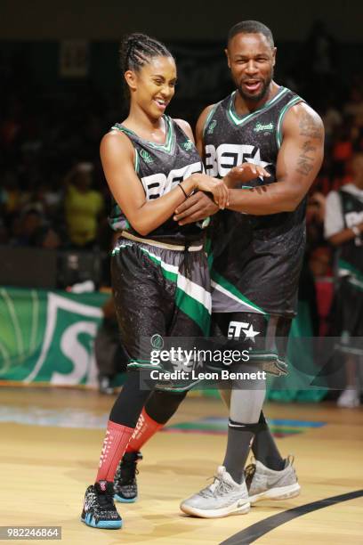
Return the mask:
M 302 494 L 211 520 L 184 516 L 179 502 L 206 486 L 221 463 L 226 435 L 218 419 L 227 413 L 219 400 L 190 397 L 173 418 L 173 431 L 144 447 L 140 500 L 118 504 L 124 528 L 107 531 L 83 525 L 79 516 L 113 398 L 45 387 L 2 387 L 0 395 L 0 525 L 60 525 L 67 545 L 363 543 L 362 409 L 267 405 L 269 419 L 282 421 L 278 445 L 295 456 Z

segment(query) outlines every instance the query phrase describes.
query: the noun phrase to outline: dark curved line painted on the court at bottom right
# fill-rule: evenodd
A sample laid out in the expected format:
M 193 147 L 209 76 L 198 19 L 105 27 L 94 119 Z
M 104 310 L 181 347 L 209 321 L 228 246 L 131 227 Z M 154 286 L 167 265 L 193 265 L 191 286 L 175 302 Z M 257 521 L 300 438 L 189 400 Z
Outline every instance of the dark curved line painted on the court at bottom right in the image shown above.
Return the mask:
M 303 515 L 311 513 L 312 511 L 317 511 L 318 509 L 326 508 L 330 505 L 341 503 L 342 501 L 354 500 L 361 496 L 363 496 L 363 489 L 340 494 L 339 496 L 331 496 L 324 500 L 312 501 L 311 503 L 305 503 L 305 505 L 296 508 L 287 509 L 283 513 L 272 515 L 272 517 L 264 518 L 260 522 L 248 526 L 245 530 L 242 530 L 242 532 L 235 533 L 227 540 L 222 541 L 220 545 L 250 545 L 250 543 L 254 543 L 254 541 L 258 540 L 266 533 L 275 530 L 278 526 L 285 525 L 294 518 L 303 517 Z

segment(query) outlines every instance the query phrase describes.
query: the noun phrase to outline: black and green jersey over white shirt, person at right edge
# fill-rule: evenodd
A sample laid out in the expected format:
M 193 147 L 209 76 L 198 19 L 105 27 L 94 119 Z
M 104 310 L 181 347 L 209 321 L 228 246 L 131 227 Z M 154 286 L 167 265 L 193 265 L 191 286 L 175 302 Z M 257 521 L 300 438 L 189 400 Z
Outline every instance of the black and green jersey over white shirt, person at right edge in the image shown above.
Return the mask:
M 345 228 L 363 222 L 363 202 L 344 187 L 338 191 L 341 199 L 343 221 Z M 357 289 L 363 290 L 363 240 L 362 237 L 345 242 L 339 248 L 338 258 L 339 276 L 348 276 L 350 283 Z

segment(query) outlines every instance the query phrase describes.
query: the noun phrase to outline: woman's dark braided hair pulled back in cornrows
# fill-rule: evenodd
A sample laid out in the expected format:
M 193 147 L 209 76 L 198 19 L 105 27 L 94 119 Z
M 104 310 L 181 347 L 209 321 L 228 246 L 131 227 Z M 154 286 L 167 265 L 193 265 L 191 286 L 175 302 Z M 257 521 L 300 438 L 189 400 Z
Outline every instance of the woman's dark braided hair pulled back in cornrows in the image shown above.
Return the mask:
M 146 34 L 133 33 L 126 36 L 120 48 L 120 64 L 123 73 L 126 70 L 138 72 L 154 57 L 171 57 L 172 53 L 167 47 L 155 38 Z M 128 85 L 125 84 L 126 98 L 130 98 Z

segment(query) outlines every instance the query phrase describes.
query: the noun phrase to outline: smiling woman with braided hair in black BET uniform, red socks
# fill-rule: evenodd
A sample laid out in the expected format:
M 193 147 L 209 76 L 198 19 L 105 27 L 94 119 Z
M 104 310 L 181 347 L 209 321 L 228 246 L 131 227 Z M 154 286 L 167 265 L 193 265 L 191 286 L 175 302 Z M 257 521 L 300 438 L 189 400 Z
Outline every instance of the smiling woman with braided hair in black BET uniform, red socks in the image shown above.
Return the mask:
M 165 115 L 176 68 L 165 45 L 142 34 L 121 49 L 127 118 L 101 141 L 101 161 L 114 198 L 110 224 L 120 232 L 111 276 L 117 321 L 129 372 L 110 415 L 95 484 L 85 492 L 81 520 L 94 528 L 120 528 L 113 500 L 117 464 L 133 435 L 155 381 L 141 386 L 155 365 L 140 357 L 141 339 L 206 335 L 211 296 L 203 230 L 180 226 L 176 207 L 193 191 L 209 191 L 221 208 L 228 200 L 222 180 L 203 173 L 188 123 Z

